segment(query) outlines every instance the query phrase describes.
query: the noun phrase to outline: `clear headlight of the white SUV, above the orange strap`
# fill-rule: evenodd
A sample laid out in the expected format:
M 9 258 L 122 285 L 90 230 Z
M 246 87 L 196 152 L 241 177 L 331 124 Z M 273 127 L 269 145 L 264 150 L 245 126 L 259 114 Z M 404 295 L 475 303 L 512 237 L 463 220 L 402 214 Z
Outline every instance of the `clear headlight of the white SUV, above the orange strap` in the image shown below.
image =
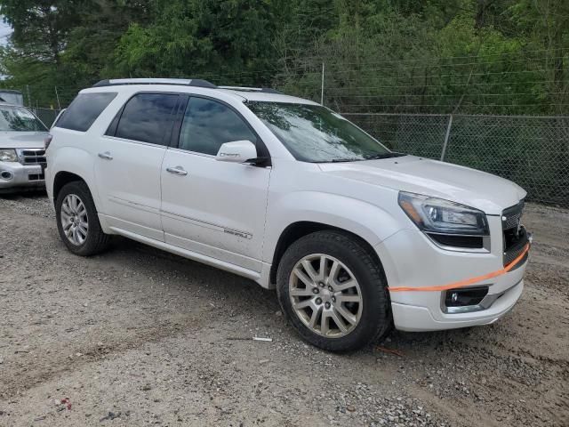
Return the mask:
M 419 229 L 428 233 L 488 236 L 488 222 L 484 212 L 473 207 L 423 196 L 399 193 L 399 205 Z

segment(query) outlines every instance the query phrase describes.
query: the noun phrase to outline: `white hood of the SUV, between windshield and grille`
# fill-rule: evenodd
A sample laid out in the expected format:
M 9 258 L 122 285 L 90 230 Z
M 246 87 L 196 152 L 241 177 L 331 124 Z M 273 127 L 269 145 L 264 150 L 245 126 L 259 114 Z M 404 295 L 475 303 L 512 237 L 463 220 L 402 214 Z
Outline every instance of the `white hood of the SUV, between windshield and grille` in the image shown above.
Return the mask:
M 525 197 L 512 181 L 469 167 L 405 156 L 350 163 L 320 164 L 325 173 L 476 207 L 499 215 Z

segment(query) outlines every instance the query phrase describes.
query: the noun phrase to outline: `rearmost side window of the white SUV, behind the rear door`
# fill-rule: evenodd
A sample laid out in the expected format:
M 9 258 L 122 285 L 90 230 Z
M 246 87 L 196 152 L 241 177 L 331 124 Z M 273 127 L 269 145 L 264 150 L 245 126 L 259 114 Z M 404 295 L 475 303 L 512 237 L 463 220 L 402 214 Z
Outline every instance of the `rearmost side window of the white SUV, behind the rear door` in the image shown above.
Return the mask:
M 79 93 L 55 125 L 86 132 L 115 97 L 116 92 Z

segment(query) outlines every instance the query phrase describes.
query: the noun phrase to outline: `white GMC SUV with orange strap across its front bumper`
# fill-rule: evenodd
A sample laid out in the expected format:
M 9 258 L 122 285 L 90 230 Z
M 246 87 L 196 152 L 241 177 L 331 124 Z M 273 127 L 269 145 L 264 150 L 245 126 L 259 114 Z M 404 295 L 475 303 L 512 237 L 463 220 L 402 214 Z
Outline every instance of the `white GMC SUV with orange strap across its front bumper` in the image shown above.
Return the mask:
M 121 235 L 275 288 L 307 341 L 485 325 L 523 289 L 525 191 L 386 149 L 316 102 L 106 80 L 52 128 L 46 183 L 78 255 Z

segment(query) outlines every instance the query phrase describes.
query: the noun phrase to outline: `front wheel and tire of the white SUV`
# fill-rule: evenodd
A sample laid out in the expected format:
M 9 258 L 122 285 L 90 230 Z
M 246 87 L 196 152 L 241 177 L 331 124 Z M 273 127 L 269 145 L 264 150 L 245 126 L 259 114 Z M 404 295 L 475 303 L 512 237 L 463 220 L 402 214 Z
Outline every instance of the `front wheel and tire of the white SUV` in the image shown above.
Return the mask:
M 301 337 L 324 350 L 360 349 L 392 324 L 381 263 L 349 233 L 317 231 L 289 246 L 278 265 L 276 294 Z

